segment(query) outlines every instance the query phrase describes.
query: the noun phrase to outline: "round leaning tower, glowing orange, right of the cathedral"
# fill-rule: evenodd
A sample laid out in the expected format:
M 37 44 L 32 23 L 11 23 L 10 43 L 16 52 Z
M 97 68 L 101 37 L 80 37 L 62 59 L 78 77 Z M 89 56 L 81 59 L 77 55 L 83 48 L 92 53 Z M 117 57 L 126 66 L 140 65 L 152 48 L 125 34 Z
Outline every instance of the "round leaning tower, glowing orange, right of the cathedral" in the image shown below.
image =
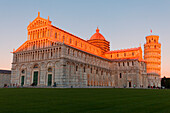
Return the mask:
M 146 43 L 144 44 L 144 59 L 149 79 L 148 85 L 160 86 L 161 44 L 159 43 L 159 36 L 146 36 Z

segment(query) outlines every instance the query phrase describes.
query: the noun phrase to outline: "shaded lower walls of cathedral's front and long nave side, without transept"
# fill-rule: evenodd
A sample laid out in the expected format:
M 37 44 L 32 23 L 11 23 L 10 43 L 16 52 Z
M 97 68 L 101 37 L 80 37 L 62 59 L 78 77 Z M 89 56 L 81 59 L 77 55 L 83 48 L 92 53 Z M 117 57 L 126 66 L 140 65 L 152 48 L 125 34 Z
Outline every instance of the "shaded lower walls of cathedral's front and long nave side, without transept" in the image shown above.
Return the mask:
M 55 51 L 58 49 L 59 51 Z M 52 51 L 54 50 L 54 51 Z M 48 52 L 46 52 L 48 51 Z M 45 52 L 37 57 L 36 53 Z M 14 54 L 23 54 L 18 52 Z M 95 86 L 111 85 L 110 61 L 71 46 L 58 43 L 50 48 L 27 51 L 29 56 L 18 57 L 12 64 L 12 83 L 21 84 L 21 76 L 25 76 L 25 85 L 33 83 L 33 73 L 38 71 L 38 85 L 47 85 L 48 68 L 52 68 L 53 82 L 58 86 Z M 37 68 L 34 66 L 37 65 Z M 25 73 L 21 73 L 25 70 Z M 84 71 L 85 70 L 85 71 Z M 100 82 L 98 82 L 100 81 Z

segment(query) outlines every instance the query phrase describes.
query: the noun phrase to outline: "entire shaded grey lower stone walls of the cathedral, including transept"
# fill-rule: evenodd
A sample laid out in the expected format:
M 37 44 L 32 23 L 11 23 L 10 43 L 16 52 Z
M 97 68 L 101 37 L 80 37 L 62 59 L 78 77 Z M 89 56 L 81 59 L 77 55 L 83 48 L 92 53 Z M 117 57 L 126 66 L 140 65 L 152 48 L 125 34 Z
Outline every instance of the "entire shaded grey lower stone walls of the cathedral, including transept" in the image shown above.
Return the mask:
M 56 49 L 59 51 L 56 52 Z M 44 59 L 41 59 L 42 56 L 36 57 L 35 53 L 40 51 L 45 52 L 43 53 Z M 34 71 L 38 71 L 38 86 L 47 86 L 49 68 L 52 68 L 52 85 L 56 82 L 57 86 L 128 87 L 128 81 L 131 81 L 132 85 L 136 84 L 136 87 L 145 84 L 140 81 L 146 70 L 138 66 L 139 63 L 143 63 L 138 60 L 133 61 L 133 66 L 132 61 L 129 60 L 125 61 L 122 66 L 122 61 L 110 61 L 62 43 L 57 43 L 50 48 L 27 52 L 31 56 L 34 54 L 35 58 L 19 57 L 18 60 L 14 60 L 12 64 L 13 84 L 21 85 L 21 76 L 25 76 L 24 86 L 31 85 Z M 23 52 L 17 54 L 23 54 Z M 37 65 L 36 68 L 35 65 Z M 22 70 L 25 70 L 25 73 L 22 73 Z M 119 73 L 122 73 L 122 79 L 118 77 Z

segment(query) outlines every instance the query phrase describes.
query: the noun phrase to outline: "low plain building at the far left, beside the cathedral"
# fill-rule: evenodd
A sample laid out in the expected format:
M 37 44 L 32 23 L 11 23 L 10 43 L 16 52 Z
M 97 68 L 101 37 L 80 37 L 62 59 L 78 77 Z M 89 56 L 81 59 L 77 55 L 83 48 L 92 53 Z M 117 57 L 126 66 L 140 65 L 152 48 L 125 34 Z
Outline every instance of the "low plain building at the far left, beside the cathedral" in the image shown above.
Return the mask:
M 4 87 L 5 84 L 9 86 L 10 83 L 11 83 L 11 71 L 0 70 L 0 87 Z

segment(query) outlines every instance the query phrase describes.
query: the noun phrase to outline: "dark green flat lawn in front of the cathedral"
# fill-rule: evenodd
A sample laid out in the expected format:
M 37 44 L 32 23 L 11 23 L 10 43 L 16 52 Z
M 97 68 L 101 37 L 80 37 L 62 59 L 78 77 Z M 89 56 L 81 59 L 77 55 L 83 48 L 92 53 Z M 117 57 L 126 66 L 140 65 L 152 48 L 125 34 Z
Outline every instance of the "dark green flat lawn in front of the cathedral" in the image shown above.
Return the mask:
M 168 113 L 170 90 L 1 88 L 2 113 Z

